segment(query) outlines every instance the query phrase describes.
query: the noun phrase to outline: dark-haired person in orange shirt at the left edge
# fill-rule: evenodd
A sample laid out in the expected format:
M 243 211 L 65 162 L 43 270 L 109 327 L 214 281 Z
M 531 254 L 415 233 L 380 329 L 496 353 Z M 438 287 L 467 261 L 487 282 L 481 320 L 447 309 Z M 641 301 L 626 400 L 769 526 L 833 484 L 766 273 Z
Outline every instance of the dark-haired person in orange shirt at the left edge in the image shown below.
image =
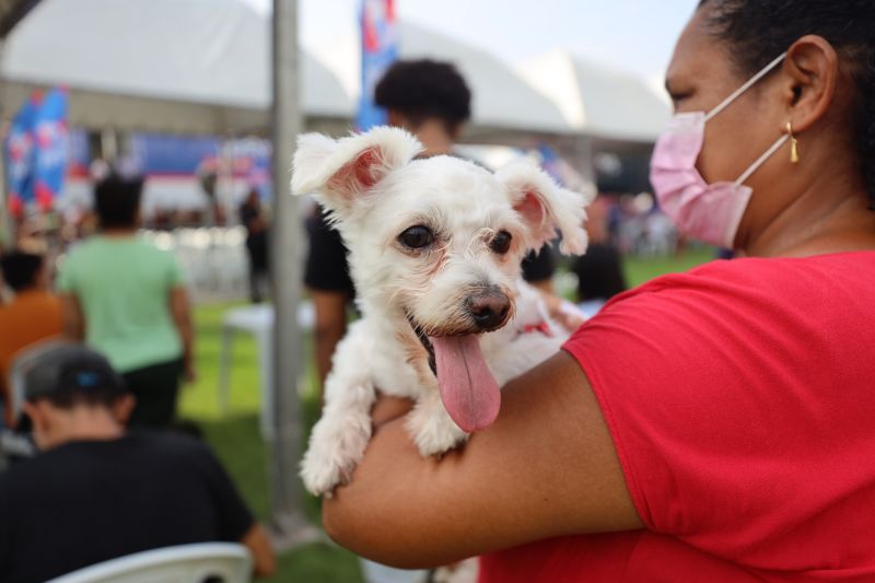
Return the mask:
M 7 425 L 14 424 L 7 382 L 12 362 L 22 349 L 34 342 L 59 337 L 63 331 L 60 300 L 49 291 L 49 270 L 45 256 L 14 250 L 0 258 L 2 281 L 14 296 L 0 305 L 0 409 Z

